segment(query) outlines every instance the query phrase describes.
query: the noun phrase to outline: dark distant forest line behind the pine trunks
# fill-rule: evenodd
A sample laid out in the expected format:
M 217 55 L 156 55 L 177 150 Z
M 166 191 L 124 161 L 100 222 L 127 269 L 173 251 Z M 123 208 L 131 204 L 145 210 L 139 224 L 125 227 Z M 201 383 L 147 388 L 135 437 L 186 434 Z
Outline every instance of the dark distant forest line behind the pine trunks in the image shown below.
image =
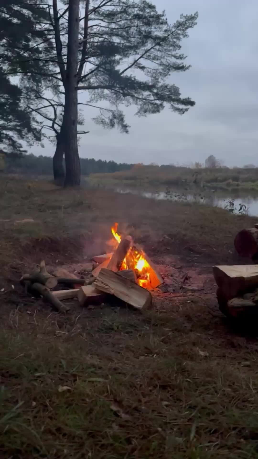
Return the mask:
M 126 162 L 117 163 L 114 161 L 95 160 L 94 158 L 81 158 L 81 173 L 104 174 L 107 172 L 120 172 L 129 170 L 133 164 Z M 5 168 L 3 172 L 7 174 L 29 174 L 29 175 L 52 175 L 52 158 L 49 156 L 25 155 L 22 158 L 5 158 Z

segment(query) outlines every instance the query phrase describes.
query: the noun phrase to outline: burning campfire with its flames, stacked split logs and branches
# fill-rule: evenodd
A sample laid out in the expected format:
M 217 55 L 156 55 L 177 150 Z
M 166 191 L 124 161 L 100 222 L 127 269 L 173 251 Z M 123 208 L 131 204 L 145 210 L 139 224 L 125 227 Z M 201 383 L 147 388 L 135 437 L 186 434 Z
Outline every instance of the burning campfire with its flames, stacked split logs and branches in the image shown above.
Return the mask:
M 59 312 L 69 309 L 61 300 L 77 297 L 85 307 L 108 302 L 110 295 L 137 309 L 150 308 L 151 290 L 163 283 L 162 278 L 132 236 L 118 233 L 117 223 L 111 233 L 109 245 L 113 250 L 92 258 L 96 265 L 89 278 L 78 279 L 65 269 L 50 274 L 42 261 L 36 272 L 22 276 L 21 284 L 34 296 L 44 297 Z

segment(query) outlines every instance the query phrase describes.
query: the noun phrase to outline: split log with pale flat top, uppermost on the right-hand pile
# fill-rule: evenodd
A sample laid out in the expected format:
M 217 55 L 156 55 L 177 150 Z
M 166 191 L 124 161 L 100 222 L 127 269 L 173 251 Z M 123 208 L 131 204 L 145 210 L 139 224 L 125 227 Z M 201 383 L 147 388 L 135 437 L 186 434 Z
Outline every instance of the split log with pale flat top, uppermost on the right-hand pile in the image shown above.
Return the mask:
M 258 286 L 258 265 L 213 266 L 220 301 L 228 301 Z

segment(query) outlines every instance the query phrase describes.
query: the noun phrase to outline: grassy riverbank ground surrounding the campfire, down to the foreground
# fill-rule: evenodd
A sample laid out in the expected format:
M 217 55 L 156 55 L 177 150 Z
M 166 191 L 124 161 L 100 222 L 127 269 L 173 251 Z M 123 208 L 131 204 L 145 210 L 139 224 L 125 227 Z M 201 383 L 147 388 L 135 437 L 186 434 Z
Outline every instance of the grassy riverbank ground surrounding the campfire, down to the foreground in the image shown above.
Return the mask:
M 222 319 L 213 283 L 156 294 L 151 313 L 113 304 L 66 316 L 18 283 L 43 257 L 101 252 L 114 221 L 156 263 L 208 272 L 236 261 L 234 235 L 254 219 L 43 181 L 2 178 L 0 196 L 1 458 L 258 458 L 257 339 Z

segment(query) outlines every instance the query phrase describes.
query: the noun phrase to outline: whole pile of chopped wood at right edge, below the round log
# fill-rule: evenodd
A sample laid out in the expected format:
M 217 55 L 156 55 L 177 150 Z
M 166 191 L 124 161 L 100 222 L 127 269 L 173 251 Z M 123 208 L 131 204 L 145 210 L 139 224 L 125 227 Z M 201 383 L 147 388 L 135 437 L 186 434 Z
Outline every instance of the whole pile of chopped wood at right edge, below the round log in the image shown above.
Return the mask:
M 228 317 L 258 314 L 258 265 L 214 266 L 219 309 Z

